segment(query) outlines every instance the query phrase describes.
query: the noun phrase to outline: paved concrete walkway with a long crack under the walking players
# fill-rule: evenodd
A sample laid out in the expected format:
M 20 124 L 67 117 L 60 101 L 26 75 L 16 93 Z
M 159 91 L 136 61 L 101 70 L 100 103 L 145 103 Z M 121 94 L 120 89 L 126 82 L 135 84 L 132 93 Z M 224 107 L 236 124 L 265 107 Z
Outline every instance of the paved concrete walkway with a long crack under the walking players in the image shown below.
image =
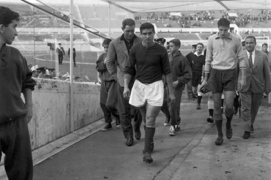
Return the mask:
M 205 98 L 206 99 L 206 98 Z M 99 131 L 100 120 L 72 134 L 72 140 L 60 140 L 48 153 L 33 152 L 34 180 L 270 180 L 271 179 L 271 121 L 270 107 L 260 107 L 254 124 L 254 133 L 248 140 L 242 138 L 239 116 L 232 120 L 233 137 L 216 146 L 215 124 L 207 123 L 206 100 L 201 110 L 196 101 L 181 103 L 181 131 L 169 136 L 164 126 L 164 114 L 157 117 L 154 136 L 154 162 L 143 162 L 144 130 L 142 138 L 128 147 L 121 128 L 113 124 L 110 131 Z M 224 116 L 224 115 L 223 115 Z M 225 116 L 223 117 L 225 118 Z M 62 138 L 63 139 L 63 138 Z M 64 143 L 63 143 L 64 142 Z M 65 149 L 63 148 L 65 146 Z M 67 148 L 66 148 L 67 147 Z M 62 151 L 56 151 L 63 149 Z M 58 153 L 54 153 L 58 152 Z M 51 153 L 51 154 L 50 154 Z M 47 159 L 44 158 L 46 157 Z M 45 161 L 38 160 L 44 158 Z M 38 163 L 38 164 L 37 164 Z M 2 171 L 3 174 L 3 171 Z M 5 179 L 0 176 L 1 180 Z

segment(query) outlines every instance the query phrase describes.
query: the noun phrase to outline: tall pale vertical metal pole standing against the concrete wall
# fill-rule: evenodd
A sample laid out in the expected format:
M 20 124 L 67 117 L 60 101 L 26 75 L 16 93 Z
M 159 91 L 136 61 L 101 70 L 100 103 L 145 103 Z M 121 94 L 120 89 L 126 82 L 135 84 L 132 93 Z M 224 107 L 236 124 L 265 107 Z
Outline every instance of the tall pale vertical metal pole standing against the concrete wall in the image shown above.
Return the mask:
M 73 0 L 70 1 L 70 132 L 74 131 L 73 119 Z

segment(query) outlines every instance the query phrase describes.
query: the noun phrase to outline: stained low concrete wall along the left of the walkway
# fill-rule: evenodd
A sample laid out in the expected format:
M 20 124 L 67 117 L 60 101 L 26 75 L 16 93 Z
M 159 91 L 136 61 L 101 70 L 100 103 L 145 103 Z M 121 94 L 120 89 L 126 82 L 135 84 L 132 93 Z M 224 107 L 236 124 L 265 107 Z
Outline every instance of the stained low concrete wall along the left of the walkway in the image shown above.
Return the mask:
M 70 83 L 35 78 L 33 118 L 28 124 L 32 149 L 70 133 Z M 74 130 L 103 117 L 100 85 L 74 82 Z M 23 97 L 23 96 L 22 96 Z

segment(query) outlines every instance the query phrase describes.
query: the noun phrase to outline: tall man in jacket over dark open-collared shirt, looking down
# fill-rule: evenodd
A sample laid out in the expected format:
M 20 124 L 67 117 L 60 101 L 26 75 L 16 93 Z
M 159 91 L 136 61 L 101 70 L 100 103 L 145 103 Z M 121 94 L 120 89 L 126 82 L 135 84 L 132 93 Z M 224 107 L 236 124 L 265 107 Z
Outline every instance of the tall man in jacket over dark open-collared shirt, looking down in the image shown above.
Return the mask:
M 124 90 L 124 70 L 129 61 L 129 53 L 133 45 L 142 42 L 142 38 L 137 37 L 135 33 L 136 22 L 133 19 L 124 19 L 122 22 L 123 34 L 110 42 L 107 50 L 106 67 L 108 72 L 117 80 L 117 94 L 118 94 L 118 110 L 120 114 L 120 124 L 127 146 L 133 145 L 133 127 L 131 124 L 131 105 L 129 100 L 123 97 Z M 116 65 L 117 64 L 117 65 Z M 136 69 L 133 70 L 131 81 L 129 82 L 130 90 L 134 84 Z M 134 130 L 137 140 L 141 137 L 140 125 L 142 116 L 138 108 L 135 108 L 134 113 Z

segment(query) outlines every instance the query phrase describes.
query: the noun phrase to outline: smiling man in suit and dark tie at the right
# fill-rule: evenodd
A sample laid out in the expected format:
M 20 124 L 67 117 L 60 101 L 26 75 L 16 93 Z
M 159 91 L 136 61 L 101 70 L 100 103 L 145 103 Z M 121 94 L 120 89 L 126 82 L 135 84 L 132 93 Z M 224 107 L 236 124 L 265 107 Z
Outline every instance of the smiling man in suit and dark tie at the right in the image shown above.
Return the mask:
M 250 137 L 250 132 L 254 131 L 253 124 L 261 104 L 263 92 L 268 94 L 271 91 L 271 77 L 267 55 L 255 49 L 256 38 L 248 36 L 245 39 L 246 49 L 246 86 L 240 90 L 241 98 L 241 120 L 245 133 L 244 139 Z

